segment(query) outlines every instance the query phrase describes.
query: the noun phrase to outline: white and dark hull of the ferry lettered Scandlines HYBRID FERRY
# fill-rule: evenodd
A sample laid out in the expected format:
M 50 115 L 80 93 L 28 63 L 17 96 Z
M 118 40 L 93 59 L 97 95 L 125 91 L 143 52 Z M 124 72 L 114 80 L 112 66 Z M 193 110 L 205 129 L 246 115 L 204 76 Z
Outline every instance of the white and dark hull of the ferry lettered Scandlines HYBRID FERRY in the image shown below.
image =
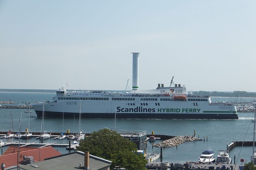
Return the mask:
M 84 95 L 86 96 L 86 94 Z M 114 118 L 116 110 L 116 118 L 125 119 L 238 119 L 235 106 L 225 103 L 218 105 L 210 103 L 209 97 L 187 97 L 186 101 L 160 101 L 161 99 L 173 100 L 168 96 L 154 97 L 157 101 L 143 101 L 143 99 L 147 98 L 151 100 L 153 97 L 139 96 L 105 96 L 101 98 L 103 100 L 58 100 L 57 102 L 46 102 L 44 103 L 44 114 L 45 117 L 62 117 L 64 110 L 65 117 L 74 117 L 74 115 L 79 117 L 81 102 L 82 118 Z M 108 98 L 108 100 L 104 100 L 104 98 Z M 112 100 L 113 98 L 114 100 Z M 115 98 L 119 98 L 119 101 L 115 100 Z M 130 101 L 123 100 L 123 98 L 129 98 Z M 190 98 L 191 100 L 196 98 L 207 101 L 188 101 Z M 33 108 L 37 117 L 42 117 L 43 103 L 35 103 Z

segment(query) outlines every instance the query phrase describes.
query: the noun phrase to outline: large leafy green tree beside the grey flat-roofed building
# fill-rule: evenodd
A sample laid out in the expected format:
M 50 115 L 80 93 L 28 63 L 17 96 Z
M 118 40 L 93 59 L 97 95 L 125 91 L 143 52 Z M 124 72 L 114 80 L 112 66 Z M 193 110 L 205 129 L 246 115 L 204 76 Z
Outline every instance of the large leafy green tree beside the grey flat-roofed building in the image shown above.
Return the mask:
M 121 166 L 129 170 L 146 170 L 147 160 L 144 155 L 137 154 L 136 144 L 123 138 L 109 129 L 93 132 L 90 137 L 80 141 L 79 151 L 112 161 L 110 166 Z

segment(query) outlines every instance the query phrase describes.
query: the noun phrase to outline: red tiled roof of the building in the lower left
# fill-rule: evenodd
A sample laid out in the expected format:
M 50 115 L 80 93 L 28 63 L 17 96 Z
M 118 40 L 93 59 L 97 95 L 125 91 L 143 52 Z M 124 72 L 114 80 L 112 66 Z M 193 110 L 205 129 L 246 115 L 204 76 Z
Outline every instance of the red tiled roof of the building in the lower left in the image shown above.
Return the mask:
M 15 147 L 15 146 L 12 146 L 12 147 Z M 18 151 L 17 148 L 19 148 L 19 147 L 16 146 L 16 151 Z M 12 148 L 12 149 L 14 149 L 14 148 Z M 33 156 L 34 161 L 38 162 L 38 161 L 43 161 L 45 158 L 59 156 L 59 155 L 61 155 L 61 153 L 56 151 L 51 146 L 35 148 L 32 150 L 28 150 L 28 151 L 21 151 L 20 156 L 19 156 L 19 164 L 21 164 L 20 162 L 21 162 L 21 160 L 23 160 L 24 155 L 26 157 Z M 0 156 L 0 164 L 4 163 L 5 168 L 8 168 L 13 165 L 17 165 L 17 157 L 18 157 L 18 152 L 2 155 L 2 156 Z M 39 157 L 40 157 L 40 160 L 39 160 Z

